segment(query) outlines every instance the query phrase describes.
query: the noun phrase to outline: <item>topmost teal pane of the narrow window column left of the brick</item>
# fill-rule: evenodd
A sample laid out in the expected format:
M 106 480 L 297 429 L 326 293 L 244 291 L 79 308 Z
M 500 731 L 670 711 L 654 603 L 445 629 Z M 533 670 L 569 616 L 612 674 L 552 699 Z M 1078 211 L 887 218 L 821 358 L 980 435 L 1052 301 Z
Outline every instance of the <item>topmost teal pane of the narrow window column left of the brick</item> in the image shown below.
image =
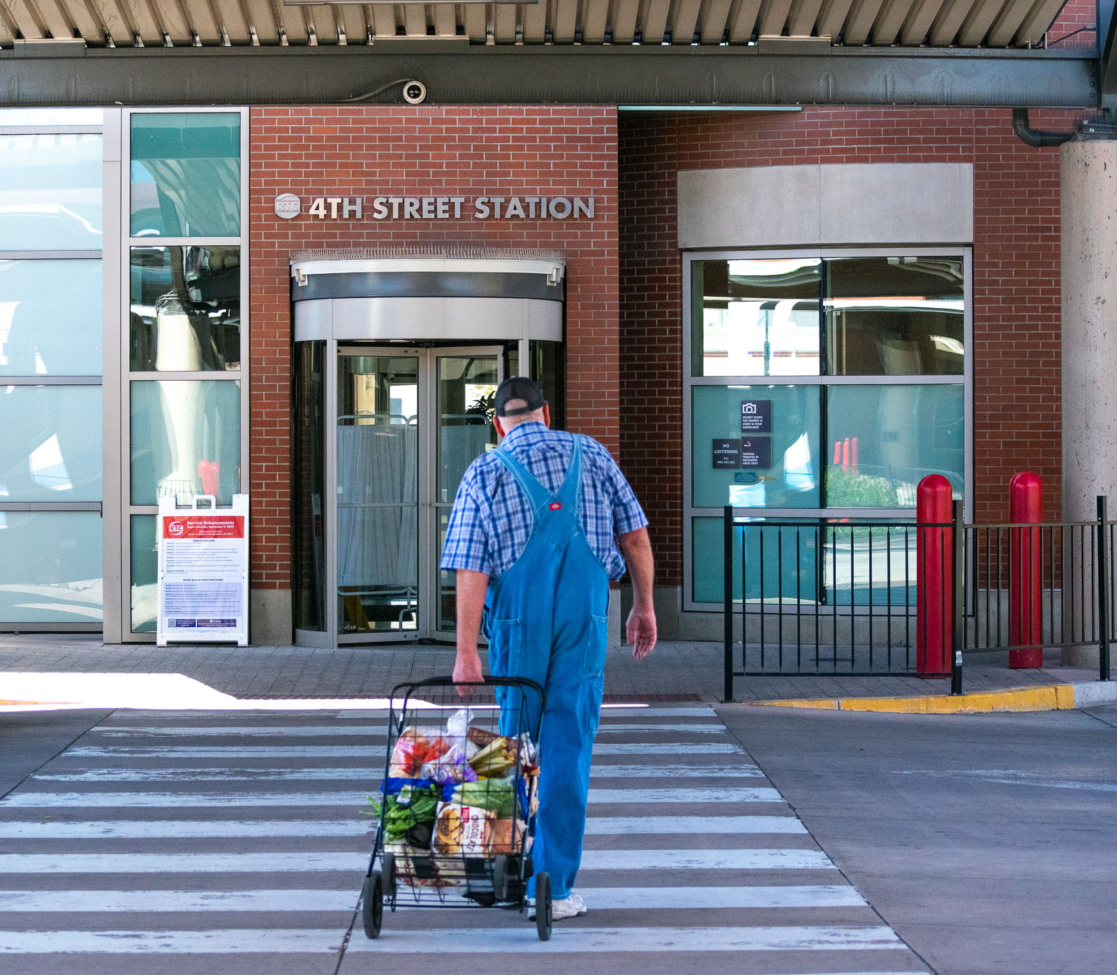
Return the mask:
M 132 116 L 132 236 L 240 235 L 240 115 Z

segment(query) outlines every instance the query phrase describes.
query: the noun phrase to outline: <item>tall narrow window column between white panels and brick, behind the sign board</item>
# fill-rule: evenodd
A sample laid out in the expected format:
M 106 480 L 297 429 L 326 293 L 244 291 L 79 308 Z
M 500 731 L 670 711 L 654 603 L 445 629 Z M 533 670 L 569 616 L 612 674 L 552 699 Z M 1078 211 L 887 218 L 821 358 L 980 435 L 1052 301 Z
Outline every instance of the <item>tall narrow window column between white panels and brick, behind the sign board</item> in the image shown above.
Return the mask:
M 124 121 L 125 633 L 153 633 L 159 500 L 229 504 L 247 490 L 247 116 L 134 110 Z

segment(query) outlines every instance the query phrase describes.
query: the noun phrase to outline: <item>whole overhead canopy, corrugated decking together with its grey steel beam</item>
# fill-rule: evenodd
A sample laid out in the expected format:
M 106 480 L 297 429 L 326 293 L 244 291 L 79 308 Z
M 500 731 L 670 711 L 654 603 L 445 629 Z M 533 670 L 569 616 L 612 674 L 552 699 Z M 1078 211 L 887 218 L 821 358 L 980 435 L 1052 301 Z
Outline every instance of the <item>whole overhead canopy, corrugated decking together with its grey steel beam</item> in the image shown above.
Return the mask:
M 0 106 L 1108 104 L 1062 2 L 2 0 Z

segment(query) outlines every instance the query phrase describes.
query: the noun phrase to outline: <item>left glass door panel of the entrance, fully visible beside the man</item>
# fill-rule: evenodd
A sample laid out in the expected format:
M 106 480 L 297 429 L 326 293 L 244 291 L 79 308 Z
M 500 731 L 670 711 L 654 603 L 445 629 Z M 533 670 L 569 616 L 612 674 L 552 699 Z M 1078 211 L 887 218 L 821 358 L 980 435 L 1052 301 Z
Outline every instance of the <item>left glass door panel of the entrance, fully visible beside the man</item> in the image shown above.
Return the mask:
M 337 634 L 416 631 L 419 356 L 337 359 Z

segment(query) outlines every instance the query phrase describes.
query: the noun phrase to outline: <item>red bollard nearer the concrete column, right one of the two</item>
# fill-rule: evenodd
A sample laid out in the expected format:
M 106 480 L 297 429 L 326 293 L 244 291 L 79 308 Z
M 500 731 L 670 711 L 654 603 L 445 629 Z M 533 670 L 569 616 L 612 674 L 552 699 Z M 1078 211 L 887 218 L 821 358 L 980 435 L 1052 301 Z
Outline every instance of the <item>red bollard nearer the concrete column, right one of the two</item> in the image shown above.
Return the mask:
M 1009 482 L 1009 521 L 1043 520 L 1043 481 L 1021 471 Z M 1043 561 L 1038 528 L 1009 529 L 1009 666 L 1043 666 Z

